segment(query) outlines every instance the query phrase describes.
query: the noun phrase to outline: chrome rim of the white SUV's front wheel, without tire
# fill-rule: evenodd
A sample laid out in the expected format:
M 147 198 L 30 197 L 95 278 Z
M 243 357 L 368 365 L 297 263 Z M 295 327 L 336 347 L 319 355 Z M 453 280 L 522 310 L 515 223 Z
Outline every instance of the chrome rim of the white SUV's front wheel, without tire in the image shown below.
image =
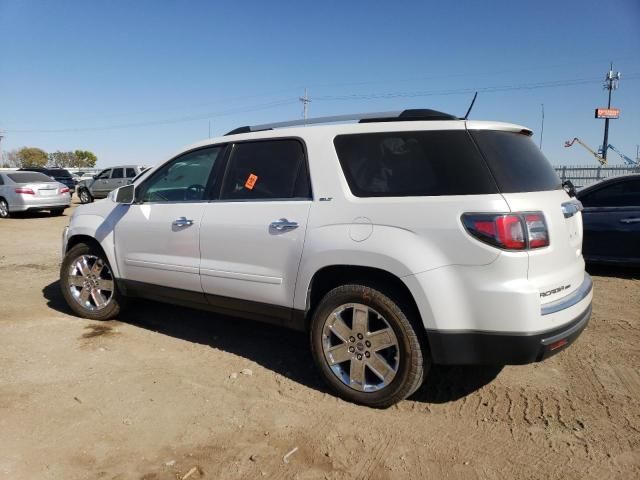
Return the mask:
M 81 255 L 69 267 L 71 297 L 92 312 L 102 310 L 113 298 L 113 276 L 102 259 Z

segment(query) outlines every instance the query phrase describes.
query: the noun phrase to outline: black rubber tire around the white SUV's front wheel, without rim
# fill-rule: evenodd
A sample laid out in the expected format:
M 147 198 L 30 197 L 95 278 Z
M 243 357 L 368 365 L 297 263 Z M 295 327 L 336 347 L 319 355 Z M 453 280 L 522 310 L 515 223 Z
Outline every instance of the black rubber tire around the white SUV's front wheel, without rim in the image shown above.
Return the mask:
M 70 284 L 70 272 L 73 263 L 83 255 L 97 257 L 97 259 L 100 259 L 104 267 L 107 267 L 109 274 L 103 274 L 103 276 L 106 277 L 106 280 L 110 278 L 113 282 L 111 297 L 109 298 L 107 305 L 102 309 L 91 310 L 89 308 L 85 308 L 73 297 L 71 288 L 72 286 Z M 60 267 L 60 288 L 62 289 L 62 295 L 64 296 L 67 305 L 69 305 L 69 308 L 71 308 L 71 310 L 73 310 L 76 315 L 84 318 L 90 318 L 91 320 L 111 320 L 121 312 L 121 310 L 124 308 L 125 298 L 119 292 L 118 286 L 116 284 L 116 279 L 115 277 L 113 277 L 111 272 L 112 270 L 111 265 L 109 264 L 109 260 L 99 248 L 87 245 L 85 243 L 79 243 L 78 245 L 72 247 L 66 253 Z

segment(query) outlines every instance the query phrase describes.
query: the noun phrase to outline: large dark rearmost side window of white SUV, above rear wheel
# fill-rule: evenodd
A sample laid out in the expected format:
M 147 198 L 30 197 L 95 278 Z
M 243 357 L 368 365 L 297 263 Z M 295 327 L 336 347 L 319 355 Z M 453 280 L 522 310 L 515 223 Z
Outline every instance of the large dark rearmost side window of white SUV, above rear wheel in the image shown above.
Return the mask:
M 464 130 L 339 135 L 334 145 L 358 197 L 497 193 Z

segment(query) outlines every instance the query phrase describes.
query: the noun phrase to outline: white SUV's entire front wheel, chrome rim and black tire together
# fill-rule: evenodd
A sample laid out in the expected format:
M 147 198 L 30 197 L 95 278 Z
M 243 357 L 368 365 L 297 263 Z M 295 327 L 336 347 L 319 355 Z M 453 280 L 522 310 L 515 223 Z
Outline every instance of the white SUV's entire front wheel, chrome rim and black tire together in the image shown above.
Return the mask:
M 67 304 L 79 316 L 110 320 L 123 302 L 104 253 L 85 243 L 72 247 L 60 267 L 60 286 Z

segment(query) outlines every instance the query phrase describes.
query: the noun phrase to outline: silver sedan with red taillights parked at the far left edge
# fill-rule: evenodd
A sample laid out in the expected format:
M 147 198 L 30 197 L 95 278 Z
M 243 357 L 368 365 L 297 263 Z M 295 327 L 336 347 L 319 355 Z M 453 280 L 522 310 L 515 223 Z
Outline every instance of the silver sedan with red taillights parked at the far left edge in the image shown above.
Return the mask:
M 49 210 L 52 215 L 61 215 L 69 205 L 69 188 L 43 173 L 0 172 L 0 218 L 34 210 Z

